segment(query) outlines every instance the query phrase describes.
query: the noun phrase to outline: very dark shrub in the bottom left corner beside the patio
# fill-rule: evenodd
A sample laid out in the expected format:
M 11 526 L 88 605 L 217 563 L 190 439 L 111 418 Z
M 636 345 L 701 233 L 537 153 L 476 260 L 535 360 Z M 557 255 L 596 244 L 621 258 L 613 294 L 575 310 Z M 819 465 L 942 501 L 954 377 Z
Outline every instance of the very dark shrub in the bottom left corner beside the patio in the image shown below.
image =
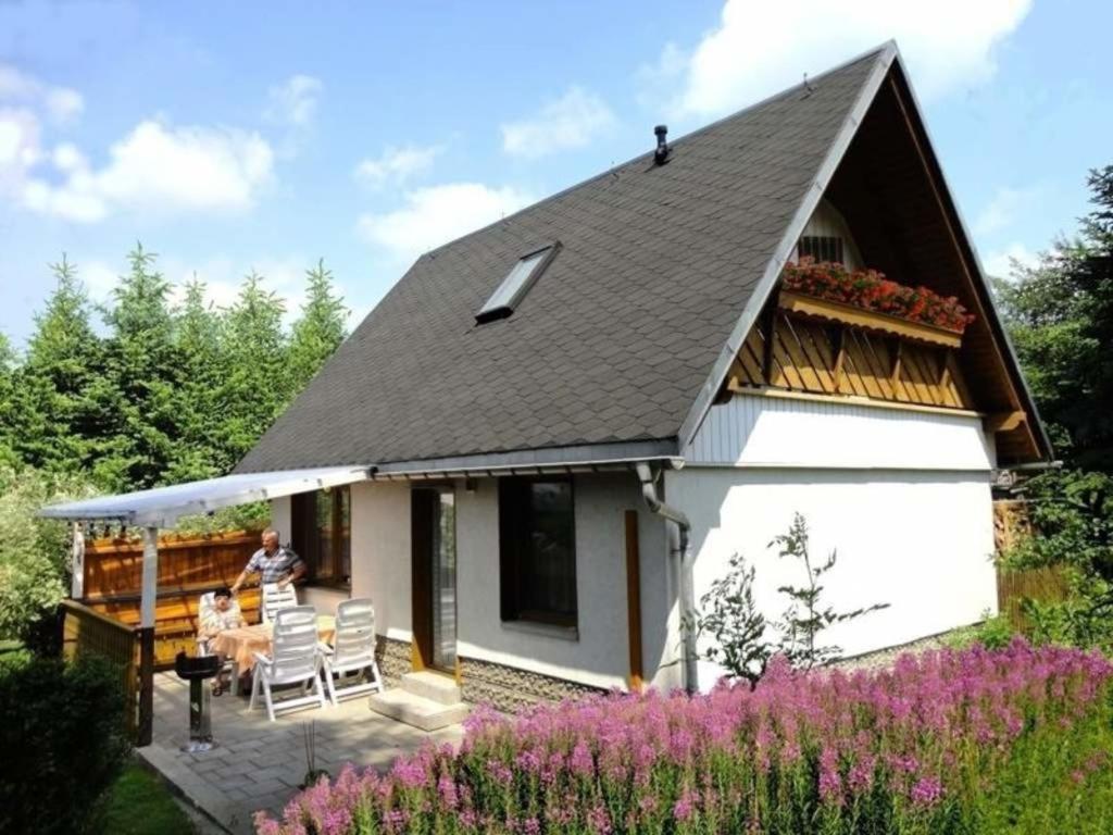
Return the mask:
M 129 753 L 124 707 L 100 658 L 0 661 L 0 832 L 99 831 Z

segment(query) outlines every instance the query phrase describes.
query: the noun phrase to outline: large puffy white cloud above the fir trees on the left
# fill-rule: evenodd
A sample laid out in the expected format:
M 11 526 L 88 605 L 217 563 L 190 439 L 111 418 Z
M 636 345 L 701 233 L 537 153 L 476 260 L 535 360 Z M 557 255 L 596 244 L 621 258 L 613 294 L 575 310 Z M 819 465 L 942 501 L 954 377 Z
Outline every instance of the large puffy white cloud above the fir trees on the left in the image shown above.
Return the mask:
M 254 204 L 274 164 L 274 151 L 256 132 L 154 120 L 137 125 L 109 156 L 93 170 L 76 147 L 60 146 L 53 164 L 61 183 L 29 179 L 23 204 L 81 223 L 116 210 L 238 212 Z

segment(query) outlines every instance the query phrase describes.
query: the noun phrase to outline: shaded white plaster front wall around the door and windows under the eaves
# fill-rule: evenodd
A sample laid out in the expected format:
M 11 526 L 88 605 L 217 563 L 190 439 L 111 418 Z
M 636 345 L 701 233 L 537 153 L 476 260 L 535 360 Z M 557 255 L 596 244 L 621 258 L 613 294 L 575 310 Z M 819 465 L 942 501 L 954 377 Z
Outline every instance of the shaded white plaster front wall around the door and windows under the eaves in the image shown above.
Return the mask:
M 371 597 L 378 631 L 400 640 L 412 637 L 410 490 L 404 482 L 352 487 L 352 595 Z M 676 645 L 666 645 L 674 596 L 666 576 L 663 524 L 644 509 L 633 473 L 578 475 L 574 497 L 579 626 L 569 635 L 502 622 L 498 482 L 477 480 L 471 493 L 456 484 L 459 654 L 597 687 L 624 687 L 623 511 L 637 509 L 646 678 L 674 685 L 676 668 L 666 666 Z

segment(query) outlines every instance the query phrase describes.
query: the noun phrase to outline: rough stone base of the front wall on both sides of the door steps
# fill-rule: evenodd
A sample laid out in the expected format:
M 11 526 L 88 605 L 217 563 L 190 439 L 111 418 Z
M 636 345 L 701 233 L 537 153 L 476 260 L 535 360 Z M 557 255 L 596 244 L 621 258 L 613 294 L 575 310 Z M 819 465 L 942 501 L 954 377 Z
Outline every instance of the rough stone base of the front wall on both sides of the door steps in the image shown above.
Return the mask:
M 380 635 L 375 657 L 387 688 L 397 687 L 403 674 L 413 669 L 408 641 Z M 560 701 L 575 696 L 605 692 L 597 687 L 475 658 L 461 657 L 460 676 L 464 701 L 491 705 L 495 710 L 506 714 L 518 713 L 542 701 Z

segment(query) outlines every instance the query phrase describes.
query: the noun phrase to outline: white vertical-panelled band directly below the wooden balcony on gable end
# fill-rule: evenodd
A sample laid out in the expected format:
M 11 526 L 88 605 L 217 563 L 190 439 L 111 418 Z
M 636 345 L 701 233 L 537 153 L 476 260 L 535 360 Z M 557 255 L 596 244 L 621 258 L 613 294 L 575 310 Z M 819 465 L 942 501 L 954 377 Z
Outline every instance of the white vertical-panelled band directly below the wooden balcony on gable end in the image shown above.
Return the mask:
M 711 406 L 692 464 L 978 470 L 993 466 L 979 418 L 837 400 L 737 394 Z

